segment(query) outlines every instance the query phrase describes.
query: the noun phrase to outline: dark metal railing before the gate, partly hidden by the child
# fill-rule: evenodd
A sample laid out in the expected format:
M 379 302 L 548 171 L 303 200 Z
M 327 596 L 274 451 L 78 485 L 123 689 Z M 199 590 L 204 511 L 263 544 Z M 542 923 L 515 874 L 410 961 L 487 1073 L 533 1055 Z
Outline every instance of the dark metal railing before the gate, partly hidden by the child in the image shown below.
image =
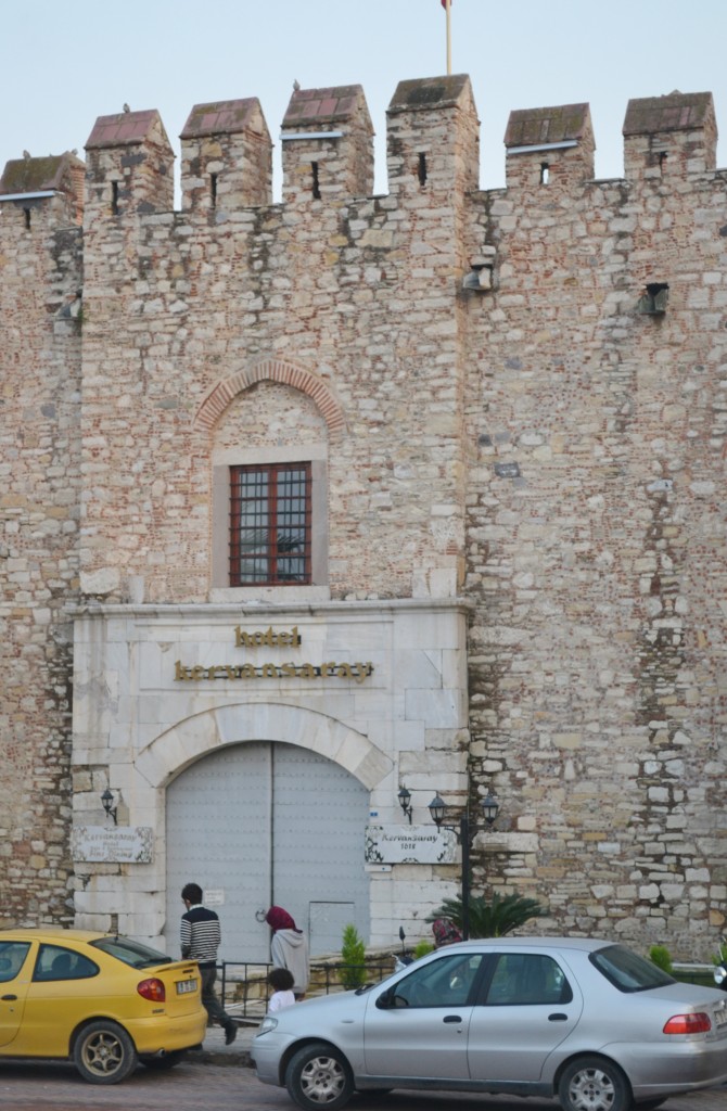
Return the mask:
M 217 965 L 218 987 L 222 1004 L 236 1019 L 246 1022 L 259 1022 L 268 1007 L 271 988 L 268 973 L 273 968 L 271 963 L 260 961 L 221 961 Z M 366 964 L 345 964 L 336 961 L 311 961 L 310 980 L 307 998 L 311 995 L 330 995 L 336 991 L 349 990 L 350 973 L 355 979 L 358 973 L 362 983 L 380 983 L 394 971 L 394 958 L 380 961 L 367 961 Z

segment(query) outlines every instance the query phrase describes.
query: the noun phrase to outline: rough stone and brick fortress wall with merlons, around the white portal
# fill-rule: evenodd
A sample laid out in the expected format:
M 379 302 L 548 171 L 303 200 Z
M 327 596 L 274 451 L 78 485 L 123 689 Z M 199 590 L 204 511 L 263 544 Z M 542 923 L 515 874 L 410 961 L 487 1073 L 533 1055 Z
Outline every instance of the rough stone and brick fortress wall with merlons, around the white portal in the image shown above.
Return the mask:
M 476 883 L 706 957 L 727 913 L 727 171 L 709 93 L 511 113 L 467 77 L 155 111 L 0 182 L 4 915 L 70 921 L 73 604 L 228 598 L 216 468 L 325 468 L 331 600 L 464 598 Z M 222 530 L 223 531 L 223 530 Z M 322 541 L 321 541 L 322 542 Z M 258 592 L 259 593 L 259 592 Z M 250 598 L 237 592 L 241 604 Z M 86 739 L 87 740 L 87 739 Z M 86 747 L 83 738 L 76 743 Z M 431 740 L 436 748 L 436 739 Z M 444 743 L 444 742 L 442 742 Z M 446 743 L 449 743 L 447 741 Z M 420 805 L 421 753 L 399 771 Z M 445 790 L 448 785 L 436 782 Z

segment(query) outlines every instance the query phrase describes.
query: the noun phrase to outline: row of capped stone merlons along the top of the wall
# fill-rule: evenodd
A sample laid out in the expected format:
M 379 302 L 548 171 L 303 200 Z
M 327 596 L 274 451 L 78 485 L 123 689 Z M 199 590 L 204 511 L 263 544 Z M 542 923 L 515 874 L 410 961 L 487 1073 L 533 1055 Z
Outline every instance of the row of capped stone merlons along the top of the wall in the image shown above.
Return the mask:
M 630 100 L 624 123 L 627 184 L 714 172 L 717 123 L 711 93 Z M 347 203 L 371 196 L 374 129 L 360 86 L 296 89 L 281 122 L 282 202 Z M 272 203 L 272 142 L 256 98 L 197 104 L 181 132 L 182 212 L 232 212 Z M 512 111 L 504 138 L 510 190 L 578 192 L 594 179 L 596 138 L 587 103 Z M 78 222 L 169 212 L 175 154 L 156 110 L 96 121 L 83 163 L 66 153 L 8 162 L 0 201 L 66 198 Z M 402 81 L 387 112 L 391 197 L 478 189 L 479 121 L 466 76 Z

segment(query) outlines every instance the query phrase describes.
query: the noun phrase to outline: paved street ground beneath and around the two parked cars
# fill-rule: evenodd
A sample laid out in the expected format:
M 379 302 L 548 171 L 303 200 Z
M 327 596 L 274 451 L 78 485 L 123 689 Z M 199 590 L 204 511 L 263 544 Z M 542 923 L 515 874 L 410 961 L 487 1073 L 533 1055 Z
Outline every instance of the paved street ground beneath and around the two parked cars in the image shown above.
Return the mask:
M 242 1029 L 232 1045 L 210 1030 L 201 1051 L 170 1072 L 140 1068 L 122 1084 L 99 1088 L 70 1064 L 0 1062 L 0 1108 L 8 1111 L 297 1111 L 280 1088 L 261 1084 L 250 1065 L 255 1030 Z M 556 1111 L 548 1100 L 397 1091 L 353 1097 L 350 1111 Z M 727 1111 L 727 1088 L 675 1097 L 665 1111 Z

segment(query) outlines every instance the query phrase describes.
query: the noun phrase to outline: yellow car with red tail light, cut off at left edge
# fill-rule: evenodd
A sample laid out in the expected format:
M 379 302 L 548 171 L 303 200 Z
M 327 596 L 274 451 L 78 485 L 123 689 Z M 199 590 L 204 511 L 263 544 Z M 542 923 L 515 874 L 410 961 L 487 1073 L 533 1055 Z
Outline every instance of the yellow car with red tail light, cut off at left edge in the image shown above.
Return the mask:
M 87 930 L 0 930 L 0 1055 L 70 1058 L 116 1084 L 168 1069 L 207 1027 L 196 961 Z

